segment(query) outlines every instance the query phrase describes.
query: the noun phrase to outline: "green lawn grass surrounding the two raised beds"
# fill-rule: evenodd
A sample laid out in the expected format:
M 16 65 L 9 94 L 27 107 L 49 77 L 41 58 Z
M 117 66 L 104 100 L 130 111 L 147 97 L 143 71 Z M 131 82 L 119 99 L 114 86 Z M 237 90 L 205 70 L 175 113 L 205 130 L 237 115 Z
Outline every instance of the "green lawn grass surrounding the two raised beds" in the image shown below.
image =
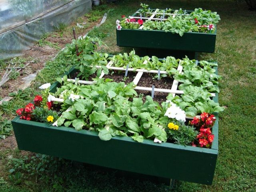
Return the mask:
M 256 12 L 248 11 L 245 2 L 221 0 L 161 0 L 142 1 L 150 8 L 183 8 L 192 10 L 201 7 L 220 14 L 217 25 L 216 49 L 213 54 L 200 54 L 200 60 L 217 60 L 218 73 L 223 76 L 220 81 L 219 102 L 226 110 L 219 117 L 219 155 L 212 186 L 176 181 L 172 190 L 166 186 L 150 181 L 119 176 L 115 171 L 92 169 L 68 160 L 55 160 L 50 157 L 36 159 L 34 164 L 29 160 L 14 164 L 10 155 L 21 158 L 18 150 L 0 152 L 0 191 L 129 191 L 129 192 L 254 192 L 256 191 Z M 110 53 L 128 52 L 130 48 L 116 46 L 116 19 L 125 14 L 129 16 L 139 8 L 135 0 L 120 1 L 103 8 L 109 12 L 108 19 L 98 29 L 92 30 L 90 36 L 98 36 L 108 47 Z M 139 37 L 138 37 L 139 38 Z M 49 62 L 32 86 L 31 93 L 36 94 L 37 87 L 43 82 L 53 82 L 68 64 Z M 65 68 L 66 70 L 66 68 Z M 58 74 L 54 73 L 60 71 Z M 54 76 L 53 76 L 54 75 Z M 31 99 L 31 97 L 26 98 Z M 9 102 L 11 106 L 21 106 L 19 97 Z M 3 109 L 1 109 L 3 110 Z M 5 111 L 12 116 L 13 111 Z M 164 156 L 163 156 L 164 158 Z M 30 163 L 30 164 L 29 164 Z M 143 162 L 141 162 L 143 163 Z M 20 184 L 8 178 L 8 170 L 14 166 L 20 168 Z M 38 165 L 44 170 L 40 170 Z M 204 162 L 202 169 L 204 171 Z M 36 172 L 33 176 L 31 172 Z M 196 172 L 194 173 L 196 176 Z M 28 177 L 29 176 L 29 177 Z M 19 178 L 19 176 L 17 176 Z M 41 179 L 40 179 L 41 178 Z

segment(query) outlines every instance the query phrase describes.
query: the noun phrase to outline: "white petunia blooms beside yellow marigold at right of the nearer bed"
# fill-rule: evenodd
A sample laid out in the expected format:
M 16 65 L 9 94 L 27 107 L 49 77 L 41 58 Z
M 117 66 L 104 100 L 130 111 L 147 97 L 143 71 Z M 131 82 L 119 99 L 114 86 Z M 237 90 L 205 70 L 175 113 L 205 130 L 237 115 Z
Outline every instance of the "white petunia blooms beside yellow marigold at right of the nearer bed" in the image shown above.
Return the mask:
M 169 118 L 176 119 L 178 121 L 186 121 L 186 114 L 185 111 L 181 110 L 180 107 L 176 106 L 176 104 L 170 102 L 171 106 L 166 110 L 164 116 L 168 116 Z

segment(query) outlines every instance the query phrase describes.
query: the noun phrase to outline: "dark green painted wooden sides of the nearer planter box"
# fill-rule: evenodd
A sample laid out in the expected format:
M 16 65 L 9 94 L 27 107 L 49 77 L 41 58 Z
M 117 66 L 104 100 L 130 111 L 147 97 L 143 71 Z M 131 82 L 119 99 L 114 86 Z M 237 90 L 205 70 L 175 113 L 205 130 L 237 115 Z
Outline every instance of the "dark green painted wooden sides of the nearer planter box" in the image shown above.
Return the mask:
M 56 90 L 57 83 L 52 85 Z M 218 96 L 214 98 L 217 102 Z M 212 128 L 211 149 L 172 143 L 135 142 L 129 137 L 115 136 L 102 141 L 98 132 L 76 131 L 40 122 L 12 120 L 18 148 L 78 162 L 129 172 L 212 184 L 218 156 L 218 114 Z

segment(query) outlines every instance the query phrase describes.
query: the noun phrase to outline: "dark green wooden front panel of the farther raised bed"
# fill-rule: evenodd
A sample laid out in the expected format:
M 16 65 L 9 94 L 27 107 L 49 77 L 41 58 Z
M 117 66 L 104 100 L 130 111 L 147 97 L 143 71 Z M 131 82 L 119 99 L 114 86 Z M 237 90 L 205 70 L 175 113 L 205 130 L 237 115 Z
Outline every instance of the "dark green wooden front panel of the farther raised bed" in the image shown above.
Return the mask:
M 214 52 L 216 31 L 213 34 L 186 32 L 179 34 L 160 30 L 116 30 L 116 43 L 121 47 L 157 48 L 193 52 Z

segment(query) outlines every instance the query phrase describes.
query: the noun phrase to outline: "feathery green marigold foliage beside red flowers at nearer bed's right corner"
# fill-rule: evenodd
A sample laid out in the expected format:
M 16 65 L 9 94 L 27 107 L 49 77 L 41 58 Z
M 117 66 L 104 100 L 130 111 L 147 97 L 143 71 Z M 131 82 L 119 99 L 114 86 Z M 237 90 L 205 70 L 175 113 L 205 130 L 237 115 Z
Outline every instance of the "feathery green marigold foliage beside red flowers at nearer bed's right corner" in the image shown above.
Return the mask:
M 168 140 L 184 146 L 191 145 L 198 134 L 195 128 L 179 121 L 175 121 L 174 124 L 179 126 L 178 130 L 173 130 L 170 128 L 165 129 Z

